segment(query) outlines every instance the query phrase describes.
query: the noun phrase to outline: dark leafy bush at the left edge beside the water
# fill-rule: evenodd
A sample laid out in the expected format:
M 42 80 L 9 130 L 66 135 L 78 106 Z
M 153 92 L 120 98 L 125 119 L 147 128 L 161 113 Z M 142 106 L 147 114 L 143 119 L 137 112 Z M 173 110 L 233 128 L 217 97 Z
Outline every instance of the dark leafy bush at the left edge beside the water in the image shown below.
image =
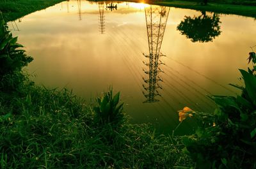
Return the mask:
M 18 38 L 13 38 L 12 33 L 8 31 L 0 13 L 0 79 L 14 71 L 20 71 L 33 60 L 25 54 L 25 50 L 20 49 L 23 46 L 17 43 L 17 40 Z

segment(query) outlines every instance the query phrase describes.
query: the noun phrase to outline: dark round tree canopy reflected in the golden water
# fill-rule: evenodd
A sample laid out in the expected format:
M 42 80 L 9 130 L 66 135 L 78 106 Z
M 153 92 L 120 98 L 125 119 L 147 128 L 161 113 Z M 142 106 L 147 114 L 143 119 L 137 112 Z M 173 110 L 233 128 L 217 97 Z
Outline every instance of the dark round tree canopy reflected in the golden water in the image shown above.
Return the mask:
M 218 14 L 214 13 L 212 16 L 207 16 L 205 12 L 202 12 L 199 17 L 185 16 L 184 20 L 177 26 L 177 30 L 193 42 L 208 42 L 220 35 L 220 23 Z

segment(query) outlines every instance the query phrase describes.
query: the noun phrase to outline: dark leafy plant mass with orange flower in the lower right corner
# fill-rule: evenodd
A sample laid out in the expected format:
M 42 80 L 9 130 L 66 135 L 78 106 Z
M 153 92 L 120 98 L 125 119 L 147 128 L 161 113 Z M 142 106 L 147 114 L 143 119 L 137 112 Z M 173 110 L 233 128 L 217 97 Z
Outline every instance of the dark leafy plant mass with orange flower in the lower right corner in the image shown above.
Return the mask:
M 250 54 L 255 64 L 255 54 Z M 253 68 L 254 69 L 254 68 Z M 239 70 L 245 87 L 239 96 L 211 96 L 217 108 L 214 114 L 182 112 L 196 117 L 194 135 L 183 136 L 187 152 L 196 168 L 256 168 L 256 77 L 253 71 Z

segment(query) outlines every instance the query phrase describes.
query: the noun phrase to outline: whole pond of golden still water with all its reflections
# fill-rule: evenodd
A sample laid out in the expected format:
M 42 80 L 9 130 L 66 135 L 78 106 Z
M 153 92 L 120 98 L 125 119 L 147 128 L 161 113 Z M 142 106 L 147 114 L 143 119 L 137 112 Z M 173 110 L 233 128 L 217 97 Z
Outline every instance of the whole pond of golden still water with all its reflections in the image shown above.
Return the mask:
M 26 68 L 46 87 L 72 89 L 88 103 L 113 86 L 133 123 L 161 133 L 184 107 L 213 112 L 208 96 L 236 96 L 255 18 L 143 3 L 64 1 L 8 23 L 34 61 Z M 177 133 L 193 129 L 192 119 Z

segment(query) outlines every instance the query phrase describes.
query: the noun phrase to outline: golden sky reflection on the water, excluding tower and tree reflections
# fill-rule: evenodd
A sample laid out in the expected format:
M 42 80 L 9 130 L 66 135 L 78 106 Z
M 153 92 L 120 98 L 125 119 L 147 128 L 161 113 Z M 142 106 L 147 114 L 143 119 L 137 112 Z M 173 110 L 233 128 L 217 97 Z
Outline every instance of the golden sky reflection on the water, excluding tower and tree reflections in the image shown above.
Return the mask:
M 142 103 L 143 68 L 147 70 L 142 53 L 148 54 L 144 5 L 119 3 L 117 10 L 104 10 L 105 34 L 100 34 L 97 3 L 81 1 L 79 20 L 77 1 L 63 2 L 22 18 L 17 22 L 20 31 L 13 34 L 35 59 L 28 70 L 35 73 L 36 83 L 72 88 L 87 100 L 113 85 L 122 92 L 125 110 L 134 121 L 157 118 L 161 126 L 170 127 L 178 122 L 175 111 L 184 106 L 211 110 L 204 105 L 211 103 L 204 98 L 207 91 L 232 94 L 227 84 L 239 83 L 237 69 L 246 68 L 250 46 L 256 44 L 255 20 L 221 15 L 220 36 L 209 43 L 192 43 L 177 25 L 185 15 L 201 13 L 171 8 L 161 47 L 166 55 L 161 58 L 164 73 L 159 74 L 164 81 L 159 83 L 163 100 Z

